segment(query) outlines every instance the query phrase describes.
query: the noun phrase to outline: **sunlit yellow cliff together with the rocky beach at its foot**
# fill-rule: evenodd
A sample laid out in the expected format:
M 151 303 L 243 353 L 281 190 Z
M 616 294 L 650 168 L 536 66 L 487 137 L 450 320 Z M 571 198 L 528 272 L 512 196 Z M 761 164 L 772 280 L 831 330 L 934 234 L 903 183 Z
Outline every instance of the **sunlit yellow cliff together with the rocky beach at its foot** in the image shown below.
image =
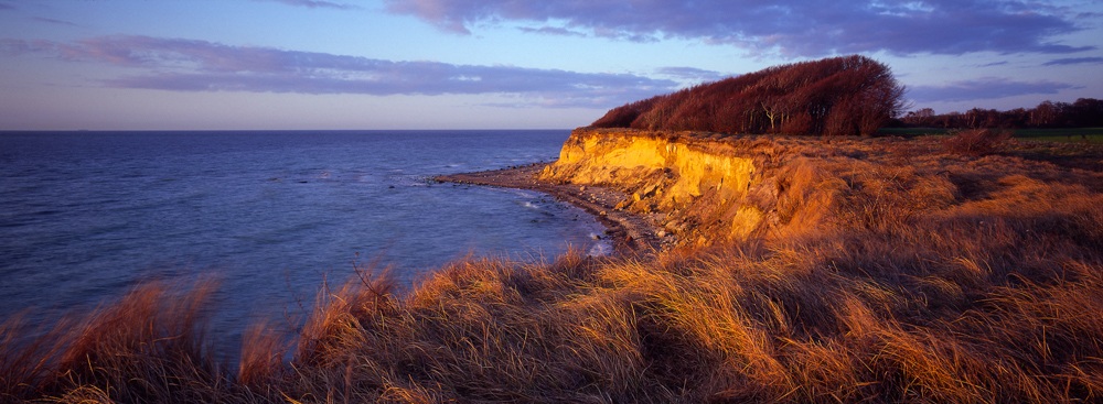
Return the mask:
M 579 128 L 554 163 L 435 179 L 552 195 L 593 215 L 618 253 L 646 253 L 769 232 L 784 181 L 771 168 L 791 149 L 760 137 Z

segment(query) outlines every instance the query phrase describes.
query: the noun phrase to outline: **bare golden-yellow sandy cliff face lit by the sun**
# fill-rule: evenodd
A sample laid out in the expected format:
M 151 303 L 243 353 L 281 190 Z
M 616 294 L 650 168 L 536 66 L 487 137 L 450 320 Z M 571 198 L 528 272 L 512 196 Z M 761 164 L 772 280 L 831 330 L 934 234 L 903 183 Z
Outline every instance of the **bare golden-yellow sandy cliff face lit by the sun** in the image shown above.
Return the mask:
M 652 215 L 681 243 L 765 236 L 792 219 L 779 211 L 792 182 L 792 167 L 781 164 L 785 148 L 758 137 L 711 138 L 577 129 L 540 179 L 618 188 L 630 196 L 619 208 Z

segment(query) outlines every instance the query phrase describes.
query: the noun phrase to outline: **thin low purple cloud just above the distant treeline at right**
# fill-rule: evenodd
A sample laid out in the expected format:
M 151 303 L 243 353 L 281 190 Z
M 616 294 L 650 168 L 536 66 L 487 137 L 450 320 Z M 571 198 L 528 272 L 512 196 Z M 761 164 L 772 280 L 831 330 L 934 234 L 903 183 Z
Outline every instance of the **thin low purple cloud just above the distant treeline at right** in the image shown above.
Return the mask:
M 943 86 L 911 87 L 909 98 L 917 102 L 956 102 L 977 99 L 996 99 L 1031 94 L 1058 94 L 1070 84 L 1039 81 L 1015 81 L 1008 78 L 984 77 L 975 80 L 954 81 Z

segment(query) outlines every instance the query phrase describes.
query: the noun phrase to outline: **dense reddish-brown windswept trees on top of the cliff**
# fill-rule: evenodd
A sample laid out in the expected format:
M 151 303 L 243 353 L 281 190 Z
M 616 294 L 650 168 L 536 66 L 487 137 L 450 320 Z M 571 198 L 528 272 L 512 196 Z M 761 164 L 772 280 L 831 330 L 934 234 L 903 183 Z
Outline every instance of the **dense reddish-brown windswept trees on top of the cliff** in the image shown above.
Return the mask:
M 614 108 L 595 128 L 724 133 L 872 134 L 903 110 L 888 66 L 852 55 L 705 83 Z

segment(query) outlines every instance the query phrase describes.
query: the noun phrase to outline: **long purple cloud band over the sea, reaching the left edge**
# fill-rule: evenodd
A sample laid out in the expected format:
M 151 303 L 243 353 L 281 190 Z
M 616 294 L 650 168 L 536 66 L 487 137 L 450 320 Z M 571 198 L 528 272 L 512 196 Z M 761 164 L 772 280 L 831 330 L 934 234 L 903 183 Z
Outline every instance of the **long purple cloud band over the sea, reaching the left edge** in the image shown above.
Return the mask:
M 517 95 L 534 105 L 607 108 L 673 90 L 676 83 L 628 74 L 515 66 L 393 62 L 326 53 L 231 46 L 206 41 L 114 35 L 75 42 L 0 40 L 9 55 L 47 53 L 136 73 L 117 88 L 298 94 Z

